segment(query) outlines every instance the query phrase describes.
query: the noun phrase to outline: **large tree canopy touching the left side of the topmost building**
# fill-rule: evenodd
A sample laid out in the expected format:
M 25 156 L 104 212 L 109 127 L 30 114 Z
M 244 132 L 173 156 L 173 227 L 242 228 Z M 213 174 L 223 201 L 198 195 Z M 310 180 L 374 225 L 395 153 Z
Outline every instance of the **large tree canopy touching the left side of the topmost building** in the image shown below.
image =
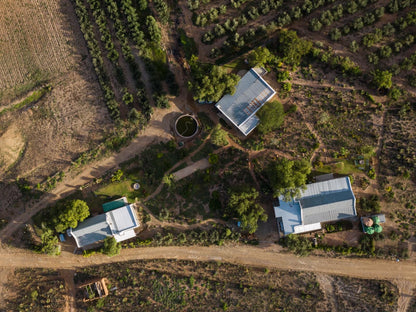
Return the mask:
M 193 82 L 189 88 L 195 100 L 218 102 L 224 94 L 233 94 L 240 77 L 226 72 L 222 67 L 203 64 L 192 56 L 190 60 Z

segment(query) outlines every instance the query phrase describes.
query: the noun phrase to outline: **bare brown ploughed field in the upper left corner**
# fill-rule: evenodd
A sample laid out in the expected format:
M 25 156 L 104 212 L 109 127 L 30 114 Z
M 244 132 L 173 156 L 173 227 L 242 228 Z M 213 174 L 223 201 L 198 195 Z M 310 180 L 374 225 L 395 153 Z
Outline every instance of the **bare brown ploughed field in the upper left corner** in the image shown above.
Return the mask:
M 0 181 L 38 183 L 111 122 L 70 0 L 2 0 L 0 43 Z M 50 92 L 19 105 L 46 84 Z

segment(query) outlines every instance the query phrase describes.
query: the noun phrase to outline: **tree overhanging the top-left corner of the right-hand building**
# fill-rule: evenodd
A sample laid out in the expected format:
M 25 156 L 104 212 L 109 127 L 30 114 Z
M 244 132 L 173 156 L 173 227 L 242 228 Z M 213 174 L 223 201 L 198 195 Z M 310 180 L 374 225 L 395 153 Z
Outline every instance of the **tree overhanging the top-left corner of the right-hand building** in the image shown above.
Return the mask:
M 266 169 L 274 196 L 283 195 L 286 201 L 299 197 L 306 184 L 311 164 L 305 160 L 288 160 L 285 158 L 271 162 Z

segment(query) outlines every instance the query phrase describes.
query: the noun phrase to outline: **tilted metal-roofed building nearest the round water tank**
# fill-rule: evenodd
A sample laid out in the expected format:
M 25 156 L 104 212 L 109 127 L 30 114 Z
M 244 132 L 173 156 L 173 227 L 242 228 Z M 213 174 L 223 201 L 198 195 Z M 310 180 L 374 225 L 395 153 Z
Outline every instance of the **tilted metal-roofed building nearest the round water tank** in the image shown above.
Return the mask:
M 240 130 L 245 136 L 253 131 L 260 120 L 257 111 L 270 100 L 276 92 L 261 77 L 265 71 L 250 69 L 239 81 L 233 95 L 226 94 L 215 105 L 220 116 Z

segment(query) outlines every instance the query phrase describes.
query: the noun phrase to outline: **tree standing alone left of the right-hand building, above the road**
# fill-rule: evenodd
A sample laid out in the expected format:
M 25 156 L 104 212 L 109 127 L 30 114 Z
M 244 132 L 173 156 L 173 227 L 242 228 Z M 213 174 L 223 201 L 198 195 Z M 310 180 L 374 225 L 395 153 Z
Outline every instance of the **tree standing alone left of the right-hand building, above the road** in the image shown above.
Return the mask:
M 231 193 L 228 201 L 228 213 L 241 221 L 241 228 L 253 234 L 257 230 L 257 222 L 267 221 L 267 214 L 256 201 L 259 193 L 255 189 L 246 192 Z

